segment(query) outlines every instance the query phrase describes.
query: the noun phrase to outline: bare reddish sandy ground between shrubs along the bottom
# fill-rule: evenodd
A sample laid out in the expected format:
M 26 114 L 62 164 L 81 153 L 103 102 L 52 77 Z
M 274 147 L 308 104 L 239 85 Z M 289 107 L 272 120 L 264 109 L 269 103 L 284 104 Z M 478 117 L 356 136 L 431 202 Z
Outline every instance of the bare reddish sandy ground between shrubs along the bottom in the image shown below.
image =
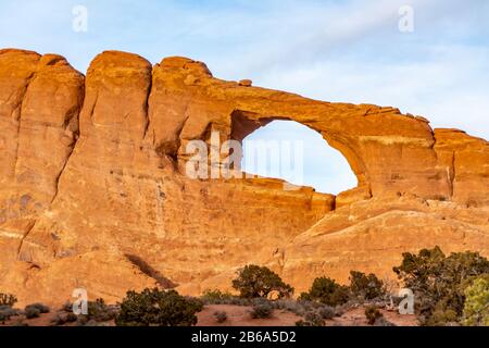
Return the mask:
M 226 312 L 227 320 L 224 323 L 217 323 L 214 313 Z M 198 313 L 197 326 L 296 326 L 300 316 L 285 310 L 275 310 L 271 319 L 252 319 L 250 316 L 251 307 L 231 306 L 231 304 L 211 304 L 205 306 L 204 310 Z M 367 326 L 363 307 L 351 309 L 343 315 L 326 321 L 326 326 Z M 398 312 L 380 310 L 389 322 L 397 326 L 417 326 L 417 320 L 414 315 L 401 315 Z M 4 325 L 15 325 L 18 322 L 29 326 L 49 326 L 51 320 L 58 312 L 41 314 L 40 318 L 27 320 L 23 316 L 13 316 Z M 67 324 L 74 325 L 74 324 Z M 114 325 L 114 323 L 106 323 Z

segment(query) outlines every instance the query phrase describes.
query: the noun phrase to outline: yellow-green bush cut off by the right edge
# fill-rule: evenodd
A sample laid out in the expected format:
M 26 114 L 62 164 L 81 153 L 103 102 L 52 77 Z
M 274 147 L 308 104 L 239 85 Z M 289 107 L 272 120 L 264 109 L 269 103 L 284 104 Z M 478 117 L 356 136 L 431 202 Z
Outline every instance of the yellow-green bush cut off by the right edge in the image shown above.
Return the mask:
M 489 326 L 489 274 L 476 278 L 464 294 L 463 324 Z

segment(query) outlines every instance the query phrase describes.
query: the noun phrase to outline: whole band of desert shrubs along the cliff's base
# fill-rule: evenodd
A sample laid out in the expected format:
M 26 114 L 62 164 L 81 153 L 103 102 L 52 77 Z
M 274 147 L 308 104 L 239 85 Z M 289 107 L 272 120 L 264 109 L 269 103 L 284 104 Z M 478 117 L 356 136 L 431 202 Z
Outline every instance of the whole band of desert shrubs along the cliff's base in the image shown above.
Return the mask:
M 403 253 L 393 268 L 399 286 L 414 294 L 415 315 L 421 325 L 489 325 L 489 261 L 476 252 L 446 256 L 438 247 L 418 253 Z M 349 284 L 342 285 L 327 275 L 315 278 L 308 291 L 292 298 L 293 288 L 278 274 L 260 265 L 240 269 L 230 284 L 234 294 L 220 289 L 205 290 L 201 297 L 184 297 L 174 289 L 127 291 L 117 304 L 103 299 L 88 302 L 88 313 L 76 315 L 72 303 L 55 312 L 51 325 L 120 326 L 192 326 L 197 314 L 206 306 L 241 306 L 249 308 L 250 320 L 268 320 L 277 312 L 291 312 L 300 318 L 298 326 L 335 324 L 337 318 L 352 309 L 362 310 L 364 323 L 392 326 L 384 315 L 397 310 L 401 298 L 375 274 L 350 272 Z M 42 303 L 14 309 L 17 299 L 0 293 L 0 324 L 25 324 L 24 320 L 50 313 Z M 396 304 L 394 304 L 396 302 Z M 226 311 L 216 310 L 214 322 L 229 320 Z M 17 318 L 12 322 L 12 318 Z

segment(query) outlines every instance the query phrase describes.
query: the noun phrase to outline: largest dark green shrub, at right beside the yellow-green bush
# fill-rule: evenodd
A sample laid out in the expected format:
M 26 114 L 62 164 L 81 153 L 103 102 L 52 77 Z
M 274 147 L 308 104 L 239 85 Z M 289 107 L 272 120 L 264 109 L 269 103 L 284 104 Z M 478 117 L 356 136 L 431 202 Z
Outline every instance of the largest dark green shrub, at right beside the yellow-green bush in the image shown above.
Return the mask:
M 446 257 L 439 247 L 418 254 L 403 253 L 393 271 L 412 289 L 422 325 L 460 322 L 465 288 L 479 275 L 489 273 L 489 261 L 477 252 L 457 252 Z

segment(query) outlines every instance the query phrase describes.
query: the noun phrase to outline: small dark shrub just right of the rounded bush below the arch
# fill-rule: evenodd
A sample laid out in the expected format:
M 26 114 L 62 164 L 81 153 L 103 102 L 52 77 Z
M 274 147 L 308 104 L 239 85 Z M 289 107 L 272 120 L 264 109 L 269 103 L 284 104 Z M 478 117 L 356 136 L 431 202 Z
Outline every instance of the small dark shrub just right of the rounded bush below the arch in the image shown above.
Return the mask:
M 328 277 L 315 278 L 309 293 L 302 293 L 300 301 L 318 301 L 327 306 L 339 306 L 348 301 L 349 289 Z

